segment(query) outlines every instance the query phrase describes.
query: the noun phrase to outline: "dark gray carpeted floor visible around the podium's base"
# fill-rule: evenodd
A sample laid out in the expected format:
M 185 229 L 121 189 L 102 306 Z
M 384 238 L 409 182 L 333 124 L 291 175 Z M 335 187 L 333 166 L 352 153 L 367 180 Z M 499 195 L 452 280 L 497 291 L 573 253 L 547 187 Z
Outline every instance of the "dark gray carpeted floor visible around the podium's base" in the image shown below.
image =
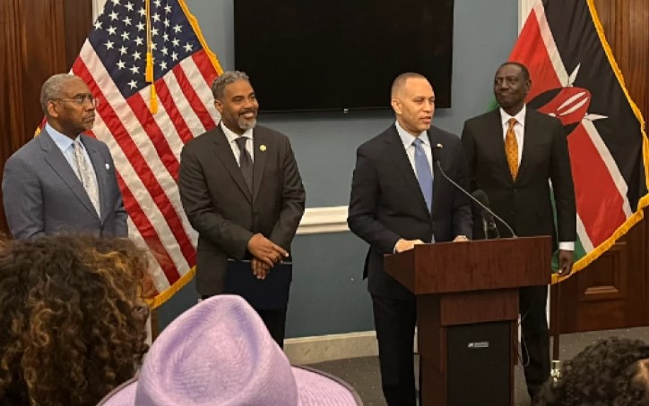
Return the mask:
M 579 351 L 582 351 L 587 345 L 597 342 L 600 338 L 613 335 L 637 338 L 649 343 L 649 327 L 562 334 L 559 342 L 559 359 L 570 359 Z M 383 393 L 381 393 L 381 376 L 379 375 L 377 357 L 340 359 L 312 364 L 310 367 L 321 369 L 333 376 L 339 376 L 350 383 L 360 394 L 365 405 L 385 406 L 385 399 L 383 398 Z M 515 404 L 520 406 L 530 404 L 530 399 L 525 389 L 523 368 L 520 366 L 515 368 Z

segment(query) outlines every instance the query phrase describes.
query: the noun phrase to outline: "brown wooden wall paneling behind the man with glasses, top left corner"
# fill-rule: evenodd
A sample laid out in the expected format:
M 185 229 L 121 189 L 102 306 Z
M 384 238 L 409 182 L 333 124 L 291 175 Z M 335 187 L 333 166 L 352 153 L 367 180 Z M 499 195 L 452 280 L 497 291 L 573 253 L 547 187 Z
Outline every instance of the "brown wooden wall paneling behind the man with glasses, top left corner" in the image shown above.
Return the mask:
M 67 55 L 81 49 L 91 16 L 91 0 L 0 1 L 0 172 L 32 138 L 43 117 L 40 87 L 69 71 Z M 2 206 L 0 229 L 7 231 Z

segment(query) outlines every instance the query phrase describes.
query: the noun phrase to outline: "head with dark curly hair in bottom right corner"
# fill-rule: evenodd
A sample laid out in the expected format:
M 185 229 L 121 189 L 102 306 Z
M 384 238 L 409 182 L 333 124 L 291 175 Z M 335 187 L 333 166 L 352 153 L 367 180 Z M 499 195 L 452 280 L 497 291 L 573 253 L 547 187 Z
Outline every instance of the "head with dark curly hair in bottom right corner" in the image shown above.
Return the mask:
M 649 345 L 612 337 L 600 340 L 561 366 L 535 404 L 561 406 L 649 405 Z

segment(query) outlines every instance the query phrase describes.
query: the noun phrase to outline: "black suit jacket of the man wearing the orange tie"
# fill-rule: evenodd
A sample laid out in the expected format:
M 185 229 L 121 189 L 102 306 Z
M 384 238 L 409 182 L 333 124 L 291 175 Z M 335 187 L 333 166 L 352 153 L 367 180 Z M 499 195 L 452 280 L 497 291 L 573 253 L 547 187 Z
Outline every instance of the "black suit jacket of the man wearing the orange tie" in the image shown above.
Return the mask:
M 570 170 L 566 133 L 561 123 L 527 107 L 523 157 L 516 181 L 505 155 L 500 110 L 464 123 L 462 143 L 472 173 L 472 189 L 487 192 L 493 211 L 517 235 L 551 235 L 558 241 L 575 241 L 575 190 Z M 552 218 L 549 180 L 557 205 L 558 234 Z M 511 236 L 498 224 L 502 237 Z

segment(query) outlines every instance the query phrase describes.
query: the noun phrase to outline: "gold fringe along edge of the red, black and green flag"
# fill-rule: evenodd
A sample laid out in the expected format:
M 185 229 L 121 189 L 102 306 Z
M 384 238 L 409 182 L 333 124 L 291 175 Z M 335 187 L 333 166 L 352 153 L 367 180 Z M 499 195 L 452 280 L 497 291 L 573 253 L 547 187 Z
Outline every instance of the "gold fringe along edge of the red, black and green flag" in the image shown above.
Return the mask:
M 645 119 L 643 118 L 640 109 L 636 106 L 636 103 L 631 99 L 631 96 L 628 94 L 628 89 L 624 81 L 624 76 L 622 75 L 622 72 L 619 70 L 619 65 L 616 62 L 615 56 L 613 55 L 613 51 L 610 48 L 609 42 L 606 40 L 606 36 L 604 35 L 604 29 L 601 26 L 600 17 L 598 16 L 597 10 L 595 9 L 594 0 L 587 0 L 587 4 L 588 4 L 588 9 L 591 13 L 591 18 L 593 19 L 595 30 L 597 30 L 597 35 L 600 38 L 601 47 L 603 47 L 604 52 L 606 53 L 606 57 L 609 60 L 610 67 L 613 69 L 613 72 L 615 72 L 615 76 L 618 79 L 619 86 L 622 88 L 622 91 L 624 92 L 624 96 L 627 97 L 627 103 L 629 104 L 629 106 L 631 106 L 633 113 L 636 115 L 636 119 L 638 123 L 640 123 L 640 133 L 642 134 L 642 155 L 643 155 L 643 162 L 645 164 L 645 186 L 647 187 L 647 189 L 649 189 L 649 170 L 648 170 L 649 169 L 649 140 L 647 140 L 646 131 L 645 131 Z M 596 249 L 586 254 L 584 258 L 580 258 L 578 261 L 575 262 L 575 265 L 573 266 L 573 270 L 570 273 L 570 275 L 559 276 L 558 274 L 553 274 L 552 284 L 565 281 L 570 276 L 575 275 L 577 272 L 583 270 L 586 266 L 593 263 L 595 259 L 601 256 L 601 254 L 609 250 L 610 247 L 612 247 L 613 244 L 615 244 L 615 242 L 619 240 L 619 238 L 625 235 L 631 229 L 631 227 L 636 225 L 640 220 L 642 220 L 645 217 L 644 209 L 647 206 L 649 206 L 649 194 L 646 194 L 645 196 L 639 199 L 637 203 L 636 213 L 628 217 L 627 221 L 621 224 L 618 227 L 618 229 L 615 231 L 615 233 L 613 233 L 613 235 L 610 236 L 609 239 L 603 241 Z

